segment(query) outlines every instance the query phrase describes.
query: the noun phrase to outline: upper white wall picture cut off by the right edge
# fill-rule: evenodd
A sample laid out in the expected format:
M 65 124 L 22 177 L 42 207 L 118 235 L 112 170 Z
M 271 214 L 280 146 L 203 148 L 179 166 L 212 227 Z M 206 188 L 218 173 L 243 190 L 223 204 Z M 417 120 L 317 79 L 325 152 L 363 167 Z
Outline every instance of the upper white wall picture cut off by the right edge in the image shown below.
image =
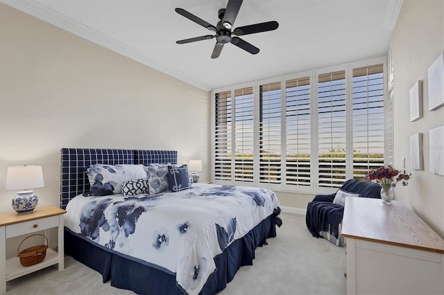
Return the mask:
M 427 69 L 427 86 L 429 111 L 434 111 L 444 105 L 444 51 Z

